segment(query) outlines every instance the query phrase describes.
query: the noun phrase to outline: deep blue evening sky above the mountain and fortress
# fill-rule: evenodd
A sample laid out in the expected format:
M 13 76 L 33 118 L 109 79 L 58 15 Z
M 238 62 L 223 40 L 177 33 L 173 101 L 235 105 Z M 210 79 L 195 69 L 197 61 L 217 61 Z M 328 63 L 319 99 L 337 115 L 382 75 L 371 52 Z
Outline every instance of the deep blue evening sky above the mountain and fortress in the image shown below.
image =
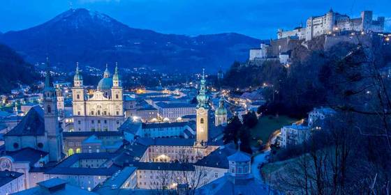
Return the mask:
M 374 10 L 391 30 L 391 0 L 1 0 L 0 31 L 27 29 L 70 8 L 87 8 L 114 17 L 133 28 L 195 36 L 236 32 L 256 38 L 276 37 L 311 15 L 330 8 L 359 16 Z

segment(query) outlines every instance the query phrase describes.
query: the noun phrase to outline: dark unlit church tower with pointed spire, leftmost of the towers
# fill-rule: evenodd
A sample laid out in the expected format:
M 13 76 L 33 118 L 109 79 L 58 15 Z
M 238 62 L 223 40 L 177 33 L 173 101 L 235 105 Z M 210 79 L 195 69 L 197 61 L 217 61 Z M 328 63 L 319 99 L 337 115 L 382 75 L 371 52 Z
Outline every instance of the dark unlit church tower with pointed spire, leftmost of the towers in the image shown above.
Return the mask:
M 43 110 L 45 118 L 45 134 L 49 148 L 49 160 L 59 162 L 63 153 L 62 131 L 59 127 L 56 90 L 50 76 L 49 59 L 46 59 L 45 87 L 43 88 Z

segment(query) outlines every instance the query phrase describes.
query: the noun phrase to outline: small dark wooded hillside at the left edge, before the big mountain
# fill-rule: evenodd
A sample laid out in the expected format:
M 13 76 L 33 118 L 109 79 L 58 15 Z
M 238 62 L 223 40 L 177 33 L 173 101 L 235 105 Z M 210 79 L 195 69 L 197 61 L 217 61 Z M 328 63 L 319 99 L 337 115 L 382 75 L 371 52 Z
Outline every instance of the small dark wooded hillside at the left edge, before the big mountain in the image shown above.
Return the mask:
M 26 63 L 13 49 L 0 44 L 0 93 L 10 93 L 18 84 L 39 79 L 33 65 Z

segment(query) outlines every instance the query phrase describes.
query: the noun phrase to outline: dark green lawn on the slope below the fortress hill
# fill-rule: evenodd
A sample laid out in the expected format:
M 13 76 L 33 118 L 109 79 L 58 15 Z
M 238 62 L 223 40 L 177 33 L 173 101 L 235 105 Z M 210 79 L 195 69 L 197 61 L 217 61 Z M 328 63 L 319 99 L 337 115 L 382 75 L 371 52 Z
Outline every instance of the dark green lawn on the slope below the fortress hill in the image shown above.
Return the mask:
M 266 143 L 272 132 L 279 130 L 284 125 L 290 125 L 295 121 L 297 121 L 296 118 L 289 118 L 288 116 L 260 116 L 257 125 L 250 130 L 251 146 L 256 146 L 258 139 Z M 253 139 L 253 137 L 256 139 Z

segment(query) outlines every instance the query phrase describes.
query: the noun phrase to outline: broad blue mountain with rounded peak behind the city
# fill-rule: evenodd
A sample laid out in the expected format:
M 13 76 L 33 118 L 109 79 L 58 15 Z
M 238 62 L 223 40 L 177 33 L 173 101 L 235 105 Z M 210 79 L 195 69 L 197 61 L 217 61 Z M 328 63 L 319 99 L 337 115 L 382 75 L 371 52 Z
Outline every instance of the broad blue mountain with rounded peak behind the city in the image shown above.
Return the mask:
M 193 72 L 202 67 L 215 71 L 235 60 L 245 61 L 249 49 L 260 40 L 238 33 L 190 37 L 133 29 L 108 15 L 80 8 L 30 29 L 3 33 L 0 42 L 31 63 L 50 56 L 63 68 L 75 68 L 76 61 L 97 68 L 118 61 L 122 68 Z

